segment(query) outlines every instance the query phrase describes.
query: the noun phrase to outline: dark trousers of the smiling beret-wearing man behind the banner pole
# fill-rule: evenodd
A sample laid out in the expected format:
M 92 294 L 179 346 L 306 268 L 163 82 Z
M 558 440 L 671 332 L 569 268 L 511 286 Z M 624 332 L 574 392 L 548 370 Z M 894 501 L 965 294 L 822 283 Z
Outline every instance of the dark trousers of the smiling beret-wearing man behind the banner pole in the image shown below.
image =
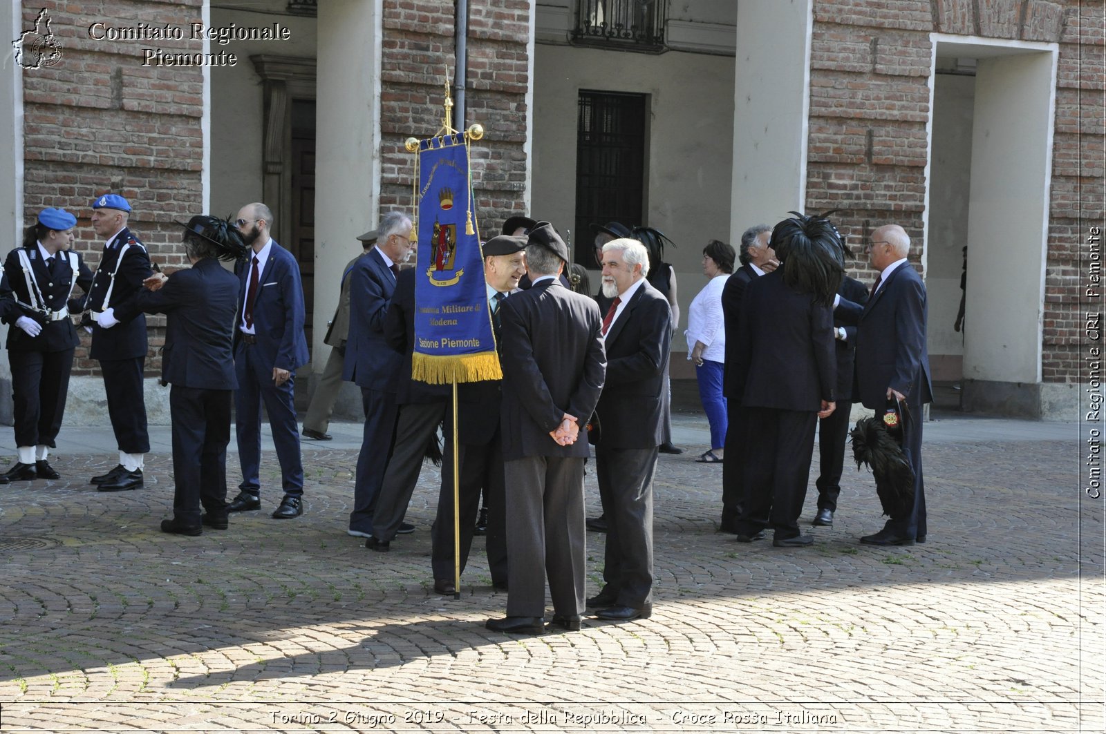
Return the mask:
M 434 578 L 453 578 L 453 437 L 447 420 L 446 450 L 441 462 L 441 492 L 438 514 L 430 528 L 432 552 L 430 565 Z M 460 506 L 461 572 L 472 548 L 477 511 L 480 508 L 480 490 L 483 489 L 488 506 L 488 534 L 486 545 L 488 568 L 492 584 L 507 584 L 507 480 L 503 475 L 503 440 L 499 429 L 487 443 L 460 442 L 458 452 L 458 505 Z

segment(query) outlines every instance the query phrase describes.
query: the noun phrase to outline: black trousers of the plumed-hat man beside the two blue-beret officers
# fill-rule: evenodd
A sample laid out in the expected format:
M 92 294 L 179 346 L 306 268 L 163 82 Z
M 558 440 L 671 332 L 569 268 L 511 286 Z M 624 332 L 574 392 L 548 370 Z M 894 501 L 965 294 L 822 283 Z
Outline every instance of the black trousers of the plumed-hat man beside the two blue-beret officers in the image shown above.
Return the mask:
M 169 389 L 173 419 L 173 516 L 190 527 L 200 524 L 200 505 L 227 514 L 227 444 L 230 442 L 232 390 Z

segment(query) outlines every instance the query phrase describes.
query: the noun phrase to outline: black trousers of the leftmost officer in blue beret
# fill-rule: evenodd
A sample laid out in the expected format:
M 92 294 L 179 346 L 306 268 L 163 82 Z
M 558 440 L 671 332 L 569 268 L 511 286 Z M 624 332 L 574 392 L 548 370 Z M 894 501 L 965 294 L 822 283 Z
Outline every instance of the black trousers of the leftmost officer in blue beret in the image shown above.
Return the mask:
M 65 413 L 73 349 L 9 352 L 8 363 L 11 365 L 15 445 L 54 448 Z

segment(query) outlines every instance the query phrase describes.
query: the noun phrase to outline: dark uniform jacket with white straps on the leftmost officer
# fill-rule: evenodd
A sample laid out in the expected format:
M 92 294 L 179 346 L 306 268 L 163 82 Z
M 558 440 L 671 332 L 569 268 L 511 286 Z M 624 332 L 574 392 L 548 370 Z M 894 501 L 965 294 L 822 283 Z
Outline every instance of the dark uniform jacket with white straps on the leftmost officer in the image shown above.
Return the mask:
M 73 321 L 61 318 L 59 321 L 46 322 L 38 336 L 28 334 L 14 324 L 20 316 L 41 318 L 41 314 L 33 314 L 33 310 L 28 306 L 39 305 L 38 294 L 31 298 L 27 292 L 27 277 L 23 275 L 23 264 L 20 262 L 19 251 L 23 250 L 31 263 L 31 271 L 34 273 L 34 282 L 38 283 L 38 291 L 41 292 L 45 301 L 45 307 L 50 311 L 61 311 L 66 307 L 73 281 L 85 293 L 92 286 L 92 271 L 84 264 L 81 254 L 72 251 L 61 251 L 63 255 L 61 264 L 55 265 L 54 276 L 51 277 L 46 264 L 42 261 L 42 253 L 38 245 L 33 248 L 17 248 L 8 253 L 3 263 L 3 280 L 0 282 L 0 318 L 4 324 L 10 324 L 8 329 L 9 352 L 64 352 L 72 349 L 81 343 L 77 338 Z M 76 271 L 70 265 L 70 255 L 76 256 Z M 19 305 L 17 301 L 27 304 Z M 41 323 L 41 322 L 40 322 Z

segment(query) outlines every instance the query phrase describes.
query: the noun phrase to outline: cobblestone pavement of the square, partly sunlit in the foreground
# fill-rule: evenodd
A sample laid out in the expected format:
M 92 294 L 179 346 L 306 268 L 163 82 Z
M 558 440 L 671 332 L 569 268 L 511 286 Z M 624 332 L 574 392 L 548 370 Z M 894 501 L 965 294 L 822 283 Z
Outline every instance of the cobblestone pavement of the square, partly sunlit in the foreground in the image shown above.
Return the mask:
M 523 638 L 483 628 L 507 597 L 479 539 L 462 598 L 432 593 L 432 466 L 392 553 L 345 535 L 344 431 L 304 443 L 303 517 L 269 517 L 270 452 L 264 512 L 196 538 L 158 531 L 166 453 L 137 492 L 97 493 L 115 457 L 64 447 L 61 480 L 0 486 L 0 731 L 1103 731 L 1103 505 L 1072 426 L 928 423 L 928 543 L 900 548 L 857 543 L 881 526 L 866 471 L 783 549 L 716 532 L 707 447 L 662 455 L 653 618 Z

